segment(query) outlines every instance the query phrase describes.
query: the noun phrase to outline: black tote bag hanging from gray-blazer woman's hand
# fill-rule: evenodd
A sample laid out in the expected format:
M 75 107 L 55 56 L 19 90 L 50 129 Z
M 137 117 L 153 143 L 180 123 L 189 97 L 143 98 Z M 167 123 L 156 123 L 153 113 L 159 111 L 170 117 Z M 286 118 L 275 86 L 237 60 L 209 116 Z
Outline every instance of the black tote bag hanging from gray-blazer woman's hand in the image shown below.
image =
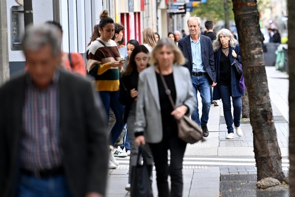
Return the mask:
M 140 158 L 143 157 L 143 164 Z M 147 153 L 143 146 L 138 147 L 136 166 L 131 167 L 130 194 L 131 197 L 153 197 L 150 175 L 152 165 L 147 164 Z

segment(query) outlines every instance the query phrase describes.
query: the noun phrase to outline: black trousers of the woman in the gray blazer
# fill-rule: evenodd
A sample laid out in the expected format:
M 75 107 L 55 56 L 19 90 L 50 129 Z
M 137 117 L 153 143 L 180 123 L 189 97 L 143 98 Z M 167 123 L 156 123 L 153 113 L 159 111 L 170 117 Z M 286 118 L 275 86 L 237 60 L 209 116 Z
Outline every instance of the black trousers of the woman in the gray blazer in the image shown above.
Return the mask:
M 182 161 L 186 142 L 173 135 L 163 138 L 160 143 L 149 143 L 154 159 L 159 197 L 182 197 Z M 168 166 L 168 149 L 170 149 L 170 166 Z M 168 175 L 171 177 L 169 192 Z

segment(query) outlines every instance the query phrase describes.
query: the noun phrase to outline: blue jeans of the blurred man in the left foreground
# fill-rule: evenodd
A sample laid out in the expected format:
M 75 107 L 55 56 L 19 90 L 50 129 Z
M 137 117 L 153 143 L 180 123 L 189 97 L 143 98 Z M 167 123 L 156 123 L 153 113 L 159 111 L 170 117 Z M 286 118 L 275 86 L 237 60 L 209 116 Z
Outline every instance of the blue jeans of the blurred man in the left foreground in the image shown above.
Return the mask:
M 71 197 L 63 175 L 35 178 L 21 174 L 17 197 Z

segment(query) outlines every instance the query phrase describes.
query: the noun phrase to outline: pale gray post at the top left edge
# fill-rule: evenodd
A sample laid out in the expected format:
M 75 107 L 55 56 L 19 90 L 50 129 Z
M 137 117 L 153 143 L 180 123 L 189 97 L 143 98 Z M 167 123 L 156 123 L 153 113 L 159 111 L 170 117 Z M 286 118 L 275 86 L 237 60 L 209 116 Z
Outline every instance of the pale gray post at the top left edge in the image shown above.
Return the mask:
M 6 0 L 0 3 L 0 84 L 9 79 Z

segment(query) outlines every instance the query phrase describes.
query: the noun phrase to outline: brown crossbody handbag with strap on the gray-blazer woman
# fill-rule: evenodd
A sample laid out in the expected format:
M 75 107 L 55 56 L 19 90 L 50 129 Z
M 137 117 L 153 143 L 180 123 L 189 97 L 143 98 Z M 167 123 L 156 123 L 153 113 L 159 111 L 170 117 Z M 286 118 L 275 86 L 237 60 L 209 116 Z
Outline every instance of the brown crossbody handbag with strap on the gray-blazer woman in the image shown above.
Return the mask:
M 171 91 L 168 89 L 167 83 L 161 71 L 159 72 L 159 74 L 165 88 L 165 93 L 168 96 L 172 107 L 175 109 L 175 103 L 172 99 Z M 182 139 L 183 141 L 190 144 L 194 144 L 198 142 L 199 140 L 205 141 L 201 127 L 195 121 L 191 120 L 187 116 L 184 115 L 182 116 L 182 118 L 177 120 L 177 127 L 178 127 L 178 137 Z

